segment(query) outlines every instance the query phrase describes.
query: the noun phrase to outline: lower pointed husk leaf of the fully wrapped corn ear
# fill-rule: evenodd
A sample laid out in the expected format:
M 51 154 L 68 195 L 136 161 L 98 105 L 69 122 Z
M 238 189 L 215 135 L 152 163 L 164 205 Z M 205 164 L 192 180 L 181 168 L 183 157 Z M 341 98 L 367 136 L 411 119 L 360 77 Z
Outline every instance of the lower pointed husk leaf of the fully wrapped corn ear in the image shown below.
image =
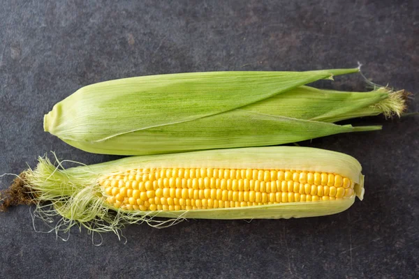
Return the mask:
M 79 149 L 95 153 L 151 155 L 201 149 L 287 144 L 337 133 L 380 129 L 380 126 L 340 126 L 320 121 L 233 110 L 195 121 L 138 130 L 94 144 L 64 141 Z

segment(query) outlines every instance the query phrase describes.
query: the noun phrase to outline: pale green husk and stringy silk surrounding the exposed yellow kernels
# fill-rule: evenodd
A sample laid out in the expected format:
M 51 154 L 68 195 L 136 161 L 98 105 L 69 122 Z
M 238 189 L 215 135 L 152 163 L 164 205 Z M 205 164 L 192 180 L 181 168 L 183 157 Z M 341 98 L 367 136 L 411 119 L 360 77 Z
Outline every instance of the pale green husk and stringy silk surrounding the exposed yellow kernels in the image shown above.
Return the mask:
M 123 158 L 97 165 L 70 169 L 55 167 L 47 158 L 39 158 L 36 169 L 21 174 L 22 186 L 30 189 L 38 204 L 36 216 L 50 219 L 61 216 L 56 228 L 68 231 L 73 225 L 86 227 L 89 232 L 119 232 L 132 223 L 148 223 L 154 227 L 173 225 L 184 218 L 256 219 L 302 218 L 339 213 L 350 207 L 353 197 L 334 201 L 292 202 L 234 209 L 203 209 L 191 211 L 124 211 L 105 202 L 105 194 L 98 185 L 103 175 L 135 168 L 153 167 L 222 167 L 259 169 L 297 169 L 312 172 L 334 172 L 355 183 L 355 194 L 363 198 L 361 166 L 355 158 L 343 153 L 307 147 L 274 146 L 244 149 L 221 149 L 188 153 Z M 52 204 L 52 209 L 45 207 Z M 154 217 L 169 219 L 159 220 Z

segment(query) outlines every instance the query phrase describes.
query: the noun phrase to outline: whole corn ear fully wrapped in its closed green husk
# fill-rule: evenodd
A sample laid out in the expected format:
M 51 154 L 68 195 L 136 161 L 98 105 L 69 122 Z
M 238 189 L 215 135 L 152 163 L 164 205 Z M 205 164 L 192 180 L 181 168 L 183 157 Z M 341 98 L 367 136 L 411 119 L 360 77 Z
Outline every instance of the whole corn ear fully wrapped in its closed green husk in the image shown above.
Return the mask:
M 402 92 L 303 86 L 358 70 L 186 73 L 101 82 L 54 105 L 44 130 L 84 151 L 118 155 L 267 146 L 379 130 L 333 122 L 399 114 Z

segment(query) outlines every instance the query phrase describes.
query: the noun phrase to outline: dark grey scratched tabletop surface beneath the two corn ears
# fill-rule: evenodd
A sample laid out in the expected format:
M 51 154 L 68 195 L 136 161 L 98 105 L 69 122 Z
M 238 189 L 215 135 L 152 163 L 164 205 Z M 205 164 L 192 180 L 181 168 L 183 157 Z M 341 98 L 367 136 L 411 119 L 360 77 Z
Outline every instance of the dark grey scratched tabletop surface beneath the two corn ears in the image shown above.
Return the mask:
M 419 91 L 418 1 L 2 1 L 0 173 L 60 159 L 115 159 L 43 132 L 43 114 L 87 84 L 207 70 L 357 66 L 378 84 Z M 364 90 L 359 75 L 317 84 Z M 418 111 L 418 98 L 409 111 Z M 0 214 L 0 278 L 415 278 L 419 273 L 419 118 L 372 117 L 373 133 L 303 146 L 360 160 L 365 200 L 344 213 L 293 220 L 188 220 L 133 225 L 101 246 L 35 232 L 33 208 Z M 12 176 L 0 180 L 8 186 Z M 37 230 L 45 230 L 36 223 Z M 98 241 L 98 239 L 96 239 Z M 417 277 L 416 277 L 417 278 Z

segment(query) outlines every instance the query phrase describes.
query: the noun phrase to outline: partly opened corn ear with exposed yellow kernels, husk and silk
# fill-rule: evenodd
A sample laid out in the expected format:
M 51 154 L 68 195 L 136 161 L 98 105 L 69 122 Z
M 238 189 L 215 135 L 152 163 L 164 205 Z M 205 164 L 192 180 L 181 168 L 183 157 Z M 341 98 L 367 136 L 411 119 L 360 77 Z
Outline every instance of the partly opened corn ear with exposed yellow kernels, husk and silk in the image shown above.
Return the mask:
M 324 216 L 364 194 L 357 160 L 296 146 L 138 156 L 70 169 L 40 158 L 22 177 L 38 206 L 52 202 L 72 225 L 98 231 L 152 225 L 156 216 L 170 222 Z

